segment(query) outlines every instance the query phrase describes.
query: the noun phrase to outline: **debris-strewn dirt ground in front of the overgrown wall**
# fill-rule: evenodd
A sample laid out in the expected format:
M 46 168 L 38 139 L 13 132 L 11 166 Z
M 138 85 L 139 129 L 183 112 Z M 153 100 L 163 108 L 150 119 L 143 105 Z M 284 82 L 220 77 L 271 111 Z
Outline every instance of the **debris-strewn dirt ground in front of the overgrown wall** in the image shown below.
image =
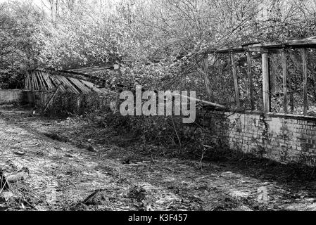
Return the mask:
M 1 210 L 316 210 L 316 181 L 284 179 L 253 161 L 201 169 L 106 129 L 87 132 L 80 118 L 10 105 L 0 112 L 0 167 L 5 176 L 30 172 L 10 184 L 10 198 L 0 196 Z

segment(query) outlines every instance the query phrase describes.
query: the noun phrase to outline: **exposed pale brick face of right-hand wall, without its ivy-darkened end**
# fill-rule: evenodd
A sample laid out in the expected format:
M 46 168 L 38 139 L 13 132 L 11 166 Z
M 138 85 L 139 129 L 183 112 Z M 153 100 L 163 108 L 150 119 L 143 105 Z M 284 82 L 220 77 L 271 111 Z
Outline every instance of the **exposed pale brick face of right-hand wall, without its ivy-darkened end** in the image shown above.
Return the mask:
M 229 113 L 225 115 L 229 116 Z M 212 116 L 214 118 L 210 124 L 214 124 L 215 116 L 220 117 L 220 114 L 210 115 L 210 118 Z M 316 153 L 316 122 L 304 120 L 303 117 L 269 117 L 265 120 L 268 127 L 266 130 L 259 118 L 259 115 L 235 114 L 227 119 L 229 130 L 221 126 L 209 130 L 212 130 L 213 135 L 226 139 L 230 148 L 253 153 L 264 148 L 267 158 L 282 162 L 291 161 L 302 152 Z M 219 131 L 214 131 L 216 129 Z

